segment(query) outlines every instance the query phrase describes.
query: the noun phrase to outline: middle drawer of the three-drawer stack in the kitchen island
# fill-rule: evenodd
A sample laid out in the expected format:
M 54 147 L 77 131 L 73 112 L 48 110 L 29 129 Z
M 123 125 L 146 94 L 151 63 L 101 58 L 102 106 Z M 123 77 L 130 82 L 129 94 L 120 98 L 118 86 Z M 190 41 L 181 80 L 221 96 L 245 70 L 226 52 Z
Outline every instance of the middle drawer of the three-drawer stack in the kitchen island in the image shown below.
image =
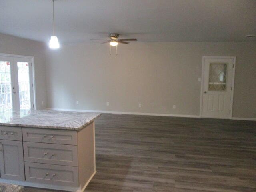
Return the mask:
M 77 146 L 23 142 L 24 161 L 78 166 Z

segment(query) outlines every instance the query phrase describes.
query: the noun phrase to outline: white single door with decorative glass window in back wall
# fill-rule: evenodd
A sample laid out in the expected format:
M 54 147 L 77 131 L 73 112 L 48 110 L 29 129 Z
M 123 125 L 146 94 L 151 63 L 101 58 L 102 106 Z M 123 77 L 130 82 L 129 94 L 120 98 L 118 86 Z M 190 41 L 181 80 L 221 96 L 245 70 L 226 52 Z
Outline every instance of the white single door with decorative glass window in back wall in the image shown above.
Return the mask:
M 234 58 L 204 58 L 202 117 L 230 118 Z

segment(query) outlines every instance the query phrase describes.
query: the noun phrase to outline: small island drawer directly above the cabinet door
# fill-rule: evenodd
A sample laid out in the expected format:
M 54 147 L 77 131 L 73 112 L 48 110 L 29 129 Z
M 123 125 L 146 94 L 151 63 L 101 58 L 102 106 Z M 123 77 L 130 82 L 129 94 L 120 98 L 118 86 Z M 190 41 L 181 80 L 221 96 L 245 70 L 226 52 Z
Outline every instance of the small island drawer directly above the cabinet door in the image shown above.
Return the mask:
M 0 126 L 0 139 L 22 141 L 21 127 Z

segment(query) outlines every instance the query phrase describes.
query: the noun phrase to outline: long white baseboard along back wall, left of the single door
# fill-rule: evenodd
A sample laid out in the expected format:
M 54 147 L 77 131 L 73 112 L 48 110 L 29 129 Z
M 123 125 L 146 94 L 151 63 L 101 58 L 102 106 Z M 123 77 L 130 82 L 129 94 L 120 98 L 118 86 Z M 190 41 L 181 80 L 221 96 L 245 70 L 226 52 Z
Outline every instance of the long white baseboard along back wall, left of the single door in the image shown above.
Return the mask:
M 180 115 L 180 114 L 162 114 L 162 113 L 138 113 L 138 112 L 123 112 L 123 111 L 99 111 L 99 110 L 63 109 L 63 108 L 47 108 L 47 110 L 78 111 L 78 112 L 92 112 L 92 113 L 111 113 L 111 114 L 118 114 L 118 115 L 127 114 L 127 115 L 149 115 L 149 116 L 200 118 L 199 115 Z

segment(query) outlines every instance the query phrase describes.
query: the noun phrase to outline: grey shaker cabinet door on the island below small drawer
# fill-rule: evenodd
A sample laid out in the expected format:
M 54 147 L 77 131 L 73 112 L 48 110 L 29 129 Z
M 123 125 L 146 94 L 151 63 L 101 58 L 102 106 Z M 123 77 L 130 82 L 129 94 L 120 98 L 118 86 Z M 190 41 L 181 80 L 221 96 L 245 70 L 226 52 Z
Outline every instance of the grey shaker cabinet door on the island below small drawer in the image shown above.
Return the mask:
M 0 140 L 1 178 L 25 180 L 22 141 Z

